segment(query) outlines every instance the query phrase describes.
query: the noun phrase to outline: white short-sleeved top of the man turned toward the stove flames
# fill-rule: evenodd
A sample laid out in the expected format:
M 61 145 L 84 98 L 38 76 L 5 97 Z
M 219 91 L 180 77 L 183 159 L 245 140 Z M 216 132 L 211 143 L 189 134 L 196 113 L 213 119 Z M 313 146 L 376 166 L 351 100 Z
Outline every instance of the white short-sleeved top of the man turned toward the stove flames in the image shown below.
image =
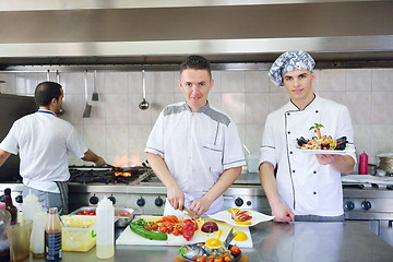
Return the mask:
M 87 151 L 75 128 L 48 110 L 16 120 L 0 148 L 20 154 L 20 174 L 25 186 L 52 193 L 59 193 L 55 181 L 70 178 L 69 152 L 82 158 Z

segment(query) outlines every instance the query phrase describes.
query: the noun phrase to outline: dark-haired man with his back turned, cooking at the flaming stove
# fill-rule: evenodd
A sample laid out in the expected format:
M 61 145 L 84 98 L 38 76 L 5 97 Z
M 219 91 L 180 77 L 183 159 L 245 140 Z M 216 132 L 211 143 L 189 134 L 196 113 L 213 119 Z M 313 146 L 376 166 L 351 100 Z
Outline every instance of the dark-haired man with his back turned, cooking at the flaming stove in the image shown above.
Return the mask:
M 105 160 L 86 147 L 71 123 L 57 118 L 63 96 L 58 83 L 37 85 L 35 100 L 39 109 L 13 123 L 0 143 L 0 166 L 10 154 L 19 154 L 23 196 L 34 193 L 45 210 L 58 207 L 67 214 L 69 152 L 97 166 L 104 165 Z

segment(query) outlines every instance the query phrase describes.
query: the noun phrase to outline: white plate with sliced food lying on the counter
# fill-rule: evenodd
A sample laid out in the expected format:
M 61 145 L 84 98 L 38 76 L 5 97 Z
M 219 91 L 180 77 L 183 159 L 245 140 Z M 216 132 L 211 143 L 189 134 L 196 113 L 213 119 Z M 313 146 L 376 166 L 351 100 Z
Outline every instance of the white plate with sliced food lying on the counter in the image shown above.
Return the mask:
M 210 215 L 210 217 L 237 227 L 251 227 L 259 223 L 269 222 L 274 218 L 274 216 L 265 215 L 257 211 L 240 209 L 229 209 Z

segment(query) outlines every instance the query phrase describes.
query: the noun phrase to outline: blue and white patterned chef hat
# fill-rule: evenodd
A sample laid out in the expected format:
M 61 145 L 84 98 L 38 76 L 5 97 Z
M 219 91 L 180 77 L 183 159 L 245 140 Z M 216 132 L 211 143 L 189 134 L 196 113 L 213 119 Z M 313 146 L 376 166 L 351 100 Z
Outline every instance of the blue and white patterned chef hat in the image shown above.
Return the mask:
M 305 51 L 287 51 L 274 61 L 269 76 L 276 86 L 282 87 L 284 86 L 283 75 L 285 73 L 295 70 L 308 70 L 312 72 L 314 66 L 315 61 L 310 53 Z

